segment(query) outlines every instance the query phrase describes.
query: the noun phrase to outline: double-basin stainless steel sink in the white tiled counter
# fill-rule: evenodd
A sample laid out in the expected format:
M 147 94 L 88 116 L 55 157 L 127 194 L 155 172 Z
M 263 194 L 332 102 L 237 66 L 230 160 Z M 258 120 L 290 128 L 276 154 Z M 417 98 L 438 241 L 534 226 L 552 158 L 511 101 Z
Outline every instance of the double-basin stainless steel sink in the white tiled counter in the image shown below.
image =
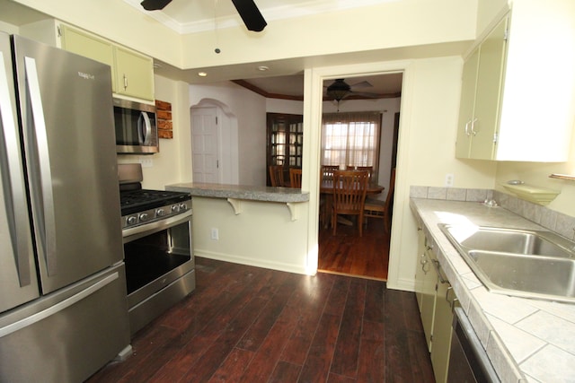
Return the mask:
M 491 292 L 575 302 L 575 243 L 551 231 L 440 224 Z

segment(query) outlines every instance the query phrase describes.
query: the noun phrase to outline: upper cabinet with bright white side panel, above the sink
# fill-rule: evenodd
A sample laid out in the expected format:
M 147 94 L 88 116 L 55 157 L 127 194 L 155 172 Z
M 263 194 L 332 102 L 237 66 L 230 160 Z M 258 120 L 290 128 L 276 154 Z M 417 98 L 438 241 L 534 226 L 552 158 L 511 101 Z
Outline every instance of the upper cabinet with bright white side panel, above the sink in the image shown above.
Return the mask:
M 456 157 L 567 161 L 575 2 L 514 2 L 464 64 Z

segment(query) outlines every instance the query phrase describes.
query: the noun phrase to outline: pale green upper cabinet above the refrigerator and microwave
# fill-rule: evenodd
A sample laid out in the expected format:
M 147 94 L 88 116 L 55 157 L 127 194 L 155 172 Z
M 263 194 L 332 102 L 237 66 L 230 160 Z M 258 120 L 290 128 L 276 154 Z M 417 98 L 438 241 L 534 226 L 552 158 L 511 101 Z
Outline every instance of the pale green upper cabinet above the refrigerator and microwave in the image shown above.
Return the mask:
M 138 100 L 154 100 L 154 61 L 93 33 L 54 20 L 23 26 L 22 35 L 111 66 L 112 91 Z

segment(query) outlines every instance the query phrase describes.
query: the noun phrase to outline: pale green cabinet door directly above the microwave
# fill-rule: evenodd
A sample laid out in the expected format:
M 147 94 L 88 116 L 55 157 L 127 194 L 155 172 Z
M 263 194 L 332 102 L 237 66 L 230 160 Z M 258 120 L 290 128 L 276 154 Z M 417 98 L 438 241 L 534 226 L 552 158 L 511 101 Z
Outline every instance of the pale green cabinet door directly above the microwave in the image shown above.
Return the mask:
M 154 62 L 126 48 L 115 47 L 117 92 L 154 100 Z

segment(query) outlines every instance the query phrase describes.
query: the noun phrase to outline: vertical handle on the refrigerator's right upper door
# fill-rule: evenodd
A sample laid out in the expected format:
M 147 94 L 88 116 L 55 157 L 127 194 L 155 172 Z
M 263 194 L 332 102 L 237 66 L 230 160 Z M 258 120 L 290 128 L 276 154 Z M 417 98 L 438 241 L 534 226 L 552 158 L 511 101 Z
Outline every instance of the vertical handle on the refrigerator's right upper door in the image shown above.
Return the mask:
M 40 238 L 46 268 L 48 274 L 56 274 L 56 216 L 54 213 L 54 196 L 52 191 L 52 173 L 50 170 L 50 158 L 48 150 L 48 133 L 46 131 L 46 121 L 44 119 L 44 109 L 40 95 L 40 83 L 38 80 L 38 70 L 36 60 L 32 57 L 24 57 L 24 67 L 26 69 L 26 83 L 31 103 L 32 120 L 36 132 L 36 150 L 40 162 L 40 185 L 42 189 L 42 201 L 35 201 L 39 204 L 39 212 L 43 212 L 43 220 L 40 220 Z

